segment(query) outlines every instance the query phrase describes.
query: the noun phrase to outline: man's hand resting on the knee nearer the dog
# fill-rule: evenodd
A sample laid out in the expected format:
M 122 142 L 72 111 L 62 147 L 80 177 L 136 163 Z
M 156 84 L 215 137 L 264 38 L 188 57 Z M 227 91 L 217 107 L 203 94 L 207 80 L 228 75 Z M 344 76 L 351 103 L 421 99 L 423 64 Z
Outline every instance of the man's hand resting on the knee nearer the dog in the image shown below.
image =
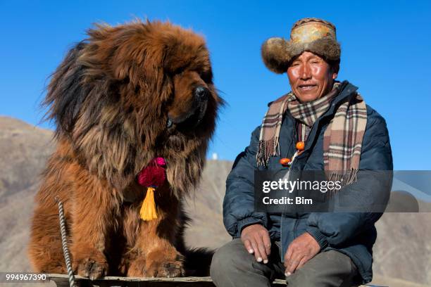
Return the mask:
M 257 262 L 268 263 L 271 252 L 271 240 L 268 230 L 261 224 L 252 224 L 241 231 L 241 240 L 249 253 L 256 257 Z

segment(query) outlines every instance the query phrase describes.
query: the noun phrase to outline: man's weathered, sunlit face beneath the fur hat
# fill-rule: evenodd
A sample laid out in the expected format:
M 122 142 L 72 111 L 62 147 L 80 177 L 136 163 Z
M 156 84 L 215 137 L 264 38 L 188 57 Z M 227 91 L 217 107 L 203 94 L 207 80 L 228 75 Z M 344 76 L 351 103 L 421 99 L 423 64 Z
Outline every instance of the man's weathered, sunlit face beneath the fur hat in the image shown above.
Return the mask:
M 323 58 L 305 51 L 287 68 L 287 76 L 292 91 L 305 103 L 325 96 L 332 89 L 337 73 Z

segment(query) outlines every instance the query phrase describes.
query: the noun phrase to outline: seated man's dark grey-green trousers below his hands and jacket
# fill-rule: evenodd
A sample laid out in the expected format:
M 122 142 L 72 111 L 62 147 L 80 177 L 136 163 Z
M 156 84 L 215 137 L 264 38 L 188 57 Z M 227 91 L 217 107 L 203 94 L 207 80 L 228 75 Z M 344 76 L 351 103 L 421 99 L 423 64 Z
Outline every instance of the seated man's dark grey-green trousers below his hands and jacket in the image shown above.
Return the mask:
M 286 279 L 289 287 L 352 286 L 358 275 L 350 257 L 335 250 L 318 253 L 294 274 L 285 277 L 280 242 L 273 242 L 268 263 L 257 262 L 248 253 L 241 239 L 236 238 L 220 247 L 211 262 L 211 278 L 218 287 L 270 286 L 274 279 Z

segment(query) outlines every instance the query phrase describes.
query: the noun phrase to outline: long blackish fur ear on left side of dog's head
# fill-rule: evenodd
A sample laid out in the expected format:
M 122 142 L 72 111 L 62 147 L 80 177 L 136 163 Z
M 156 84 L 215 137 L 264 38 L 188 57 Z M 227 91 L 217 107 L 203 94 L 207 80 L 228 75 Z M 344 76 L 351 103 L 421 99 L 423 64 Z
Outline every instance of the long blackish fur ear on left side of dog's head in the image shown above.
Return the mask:
M 85 43 L 75 45 L 58 66 L 48 86 L 46 98 L 42 103 L 49 107 L 46 119 L 56 122 L 57 133 L 71 132 L 88 91 L 83 83 L 85 67 L 77 63 Z

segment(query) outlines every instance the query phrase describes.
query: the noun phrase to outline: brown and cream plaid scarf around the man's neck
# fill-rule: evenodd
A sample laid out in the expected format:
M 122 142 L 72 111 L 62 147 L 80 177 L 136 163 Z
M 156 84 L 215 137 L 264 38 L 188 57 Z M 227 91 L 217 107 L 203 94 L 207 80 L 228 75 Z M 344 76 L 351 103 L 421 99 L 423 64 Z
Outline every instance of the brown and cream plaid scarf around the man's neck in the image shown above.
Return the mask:
M 280 128 L 287 109 L 299 121 L 299 141 L 306 141 L 314 122 L 339 93 L 340 85 L 336 82 L 330 93 L 316 101 L 301 103 L 291 91 L 271 103 L 261 125 L 256 154 L 258 166 L 267 166 L 270 156 L 280 155 Z M 356 94 L 337 108 L 323 134 L 323 164 L 330 180 L 342 180 L 344 185 L 356 181 L 366 123 L 366 103 L 361 95 Z

